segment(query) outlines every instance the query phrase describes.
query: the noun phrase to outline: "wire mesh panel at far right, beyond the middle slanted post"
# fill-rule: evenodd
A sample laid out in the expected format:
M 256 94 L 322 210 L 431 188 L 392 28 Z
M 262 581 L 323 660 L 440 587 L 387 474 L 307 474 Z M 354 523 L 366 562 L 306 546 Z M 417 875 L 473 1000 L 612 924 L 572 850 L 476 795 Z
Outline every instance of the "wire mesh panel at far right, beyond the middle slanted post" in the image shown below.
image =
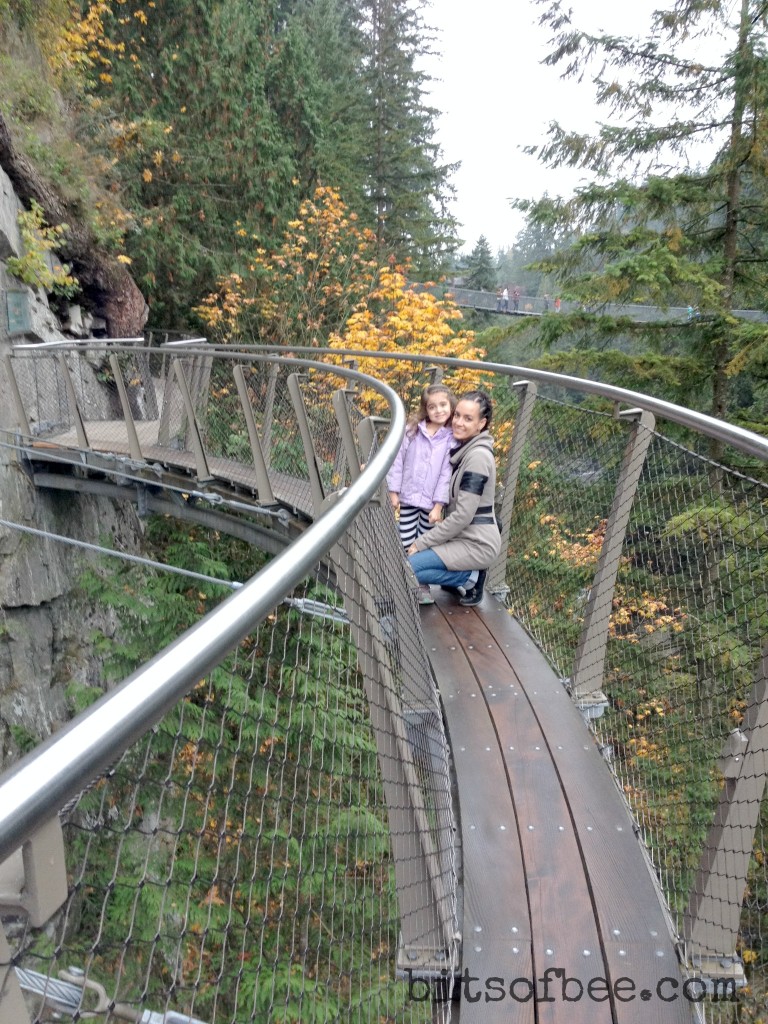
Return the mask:
M 748 1006 L 766 997 L 765 975 L 752 967 L 768 937 L 766 501 L 764 483 L 654 438 L 613 592 L 609 705 L 595 722 L 680 934 L 690 931 L 689 910 L 696 946 L 738 952 L 754 977 Z M 748 726 L 757 752 L 749 762 Z M 692 900 L 710 891 L 696 910 Z M 728 949 L 719 948 L 724 938 Z

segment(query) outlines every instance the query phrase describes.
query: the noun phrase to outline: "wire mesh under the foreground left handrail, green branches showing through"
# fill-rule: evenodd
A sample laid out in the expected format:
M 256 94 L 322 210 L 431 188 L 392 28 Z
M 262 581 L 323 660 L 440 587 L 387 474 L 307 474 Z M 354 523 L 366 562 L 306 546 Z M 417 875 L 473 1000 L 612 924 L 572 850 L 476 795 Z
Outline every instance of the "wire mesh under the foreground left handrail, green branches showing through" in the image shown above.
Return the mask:
M 34 1021 L 73 968 L 74 1019 L 431 1019 L 397 961 L 455 964 L 454 827 L 398 554 L 390 510 L 371 508 L 68 810 L 67 904 L 39 932 L 6 922 L 42 989 Z

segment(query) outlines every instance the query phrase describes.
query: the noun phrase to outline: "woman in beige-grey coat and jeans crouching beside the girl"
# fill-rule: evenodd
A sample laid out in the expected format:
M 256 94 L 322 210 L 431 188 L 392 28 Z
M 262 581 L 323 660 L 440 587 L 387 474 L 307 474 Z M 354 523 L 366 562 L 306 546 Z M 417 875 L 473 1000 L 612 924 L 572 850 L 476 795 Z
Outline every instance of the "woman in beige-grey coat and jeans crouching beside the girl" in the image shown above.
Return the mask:
M 470 391 L 454 412 L 459 446 L 451 455 L 453 472 L 445 518 L 422 534 L 408 549 L 419 581 L 419 603 L 432 604 L 430 584 L 466 591 L 459 603 L 479 604 L 487 567 L 501 549 L 494 515 L 496 462 L 488 433 L 493 407 L 484 391 Z M 482 566 L 482 567 L 481 567 Z

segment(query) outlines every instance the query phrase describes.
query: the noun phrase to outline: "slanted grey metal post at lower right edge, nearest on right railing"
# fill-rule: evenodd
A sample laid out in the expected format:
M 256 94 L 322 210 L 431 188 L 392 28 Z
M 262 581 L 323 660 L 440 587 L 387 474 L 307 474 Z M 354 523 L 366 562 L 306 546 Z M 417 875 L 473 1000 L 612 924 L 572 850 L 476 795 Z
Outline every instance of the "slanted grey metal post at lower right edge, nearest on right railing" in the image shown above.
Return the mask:
M 707 961 L 736 951 L 746 874 L 768 773 L 768 647 L 763 651 L 739 730 L 729 737 L 720 767 L 725 776 L 683 918 L 686 956 Z

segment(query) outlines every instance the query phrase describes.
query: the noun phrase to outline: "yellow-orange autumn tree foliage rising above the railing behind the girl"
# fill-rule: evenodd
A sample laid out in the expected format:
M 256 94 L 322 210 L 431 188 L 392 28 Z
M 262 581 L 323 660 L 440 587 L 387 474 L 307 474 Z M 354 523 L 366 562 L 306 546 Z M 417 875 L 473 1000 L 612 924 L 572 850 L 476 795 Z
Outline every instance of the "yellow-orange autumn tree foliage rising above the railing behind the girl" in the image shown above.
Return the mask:
M 243 231 L 237 225 L 237 243 Z M 222 343 L 242 340 L 282 347 L 325 347 L 481 359 L 474 334 L 449 298 L 408 280 L 408 267 L 376 261 L 376 239 L 360 227 L 339 193 L 318 186 L 289 221 L 283 243 L 268 251 L 253 242 L 243 268 L 221 278 L 195 310 Z M 358 360 L 358 369 L 411 395 L 426 383 L 427 364 Z M 445 383 L 457 393 L 482 386 L 474 371 L 454 371 Z M 373 396 L 362 396 L 371 397 Z

